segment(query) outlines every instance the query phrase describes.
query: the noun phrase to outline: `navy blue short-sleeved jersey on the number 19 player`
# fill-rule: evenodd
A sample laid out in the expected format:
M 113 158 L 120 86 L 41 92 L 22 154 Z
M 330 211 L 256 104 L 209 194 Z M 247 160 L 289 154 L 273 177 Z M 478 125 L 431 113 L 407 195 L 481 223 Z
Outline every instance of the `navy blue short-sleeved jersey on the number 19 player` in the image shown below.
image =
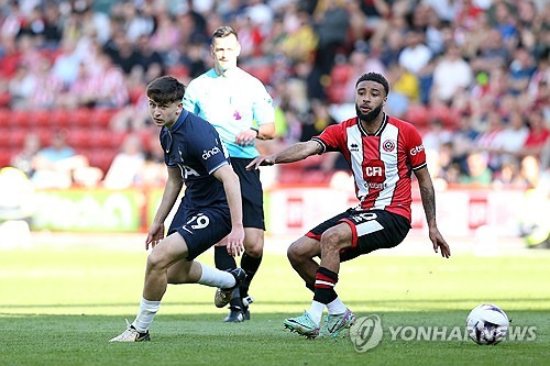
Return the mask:
M 227 204 L 223 185 L 212 173 L 229 164 L 229 155 L 210 123 L 182 110 L 172 130 L 161 130 L 161 145 L 164 163 L 182 170 L 186 185 L 183 200 L 185 207 Z

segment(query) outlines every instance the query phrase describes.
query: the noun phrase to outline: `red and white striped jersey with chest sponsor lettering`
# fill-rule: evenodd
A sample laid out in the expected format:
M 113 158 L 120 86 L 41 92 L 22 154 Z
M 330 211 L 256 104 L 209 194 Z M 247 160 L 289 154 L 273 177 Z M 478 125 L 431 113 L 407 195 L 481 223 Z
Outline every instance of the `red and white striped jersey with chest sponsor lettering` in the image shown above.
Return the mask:
M 426 166 L 420 134 L 413 124 L 388 115 L 374 134 L 358 122 L 353 118 L 330 125 L 311 140 L 322 145 L 322 153 L 343 154 L 362 209 L 386 210 L 410 221 L 410 175 Z

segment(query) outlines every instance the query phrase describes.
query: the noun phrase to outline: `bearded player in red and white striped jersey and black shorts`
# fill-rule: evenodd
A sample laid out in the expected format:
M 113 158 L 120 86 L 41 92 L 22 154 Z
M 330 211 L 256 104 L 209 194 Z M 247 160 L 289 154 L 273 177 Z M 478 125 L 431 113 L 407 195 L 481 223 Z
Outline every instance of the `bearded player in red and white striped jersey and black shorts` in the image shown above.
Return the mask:
M 294 269 L 315 295 L 310 309 L 286 319 L 284 325 L 307 337 L 338 336 L 353 324 L 355 315 L 334 291 L 340 263 L 394 247 L 405 239 L 410 229 L 411 173 L 418 179 L 433 249 L 446 258 L 451 255 L 436 223 L 433 185 L 420 134 L 413 124 L 383 112 L 389 92 L 384 76 L 361 76 L 355 91 L 355 118 L 328 126 L 308 142 L 261 156 L 246 167 L 293 163 L 338 151 L 353 173 L 359 206 L 314 228 L 287 251 Z M 315 257 L 320 257 L 319 264 Z M 321 330 L 324 308 L 328 317 Z

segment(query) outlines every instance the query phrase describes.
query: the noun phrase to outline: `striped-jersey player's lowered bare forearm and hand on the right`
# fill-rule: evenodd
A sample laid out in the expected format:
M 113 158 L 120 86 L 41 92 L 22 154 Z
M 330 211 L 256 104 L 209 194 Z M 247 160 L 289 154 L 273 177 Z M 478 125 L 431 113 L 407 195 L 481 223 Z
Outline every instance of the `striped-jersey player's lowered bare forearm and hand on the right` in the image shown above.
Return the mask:
M 436 222 L 436 192 L 433 191 L 430 173 L 427 167 L 424 167 L 415 170 L 415 176 L 418 178 L 420 197 L 422 198 L 424 211 L 426 213 L 426 221 L 428 222 L 429 235 L 430 241 L 433 244 L 433 251 L 438 253 L 441 248 L 441 256 L 449 258 L 451 256 L 451 248 L 443 239 L 443 235 L 439 232 L 438 224 Z

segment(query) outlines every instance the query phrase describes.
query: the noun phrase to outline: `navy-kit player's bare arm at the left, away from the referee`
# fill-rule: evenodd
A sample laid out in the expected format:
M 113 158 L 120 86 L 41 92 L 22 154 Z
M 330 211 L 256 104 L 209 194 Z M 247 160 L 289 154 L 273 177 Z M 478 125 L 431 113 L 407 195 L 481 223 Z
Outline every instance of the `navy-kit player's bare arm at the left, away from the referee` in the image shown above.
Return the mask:
M 145 239 L 145 249 L 147 249 L 150 245 L 155 247 L 155 245 L 164 239 L 164 221 L 168 217 L 174 203 L 176 203 L 183 186 L 184 179 L 182 178 L 179 168 L 168 168 L 168 180 L 166 180 L 166 186 L 164 187 L 161 206 L 158 210 L 156 210 L 153 223 L 148 229 L 147 237 Z

